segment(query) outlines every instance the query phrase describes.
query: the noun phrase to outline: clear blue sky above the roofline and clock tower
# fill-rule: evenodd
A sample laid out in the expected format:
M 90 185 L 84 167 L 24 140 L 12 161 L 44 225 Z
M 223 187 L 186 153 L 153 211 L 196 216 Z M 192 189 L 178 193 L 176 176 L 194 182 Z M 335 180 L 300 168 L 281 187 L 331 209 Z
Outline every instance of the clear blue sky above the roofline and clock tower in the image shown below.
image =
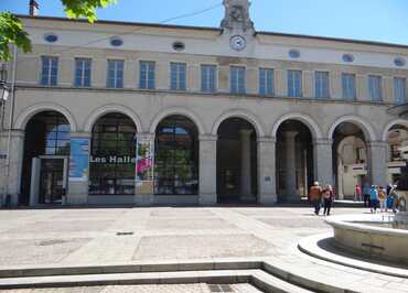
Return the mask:
M 58 0 L 37 0 L 41 15 L 64 17 Z M 0 0 L 0 11 L 26 13 L 29 0 Z M 98 11 L 100 20 L 162 22 L 221 4 L 222 0 L 118 0 Z M 224 10 L 171 21 L 172 24 L 218 26 Z M 408 45 L 408 0 L 253 0 L 258 31 L 310 34 Z

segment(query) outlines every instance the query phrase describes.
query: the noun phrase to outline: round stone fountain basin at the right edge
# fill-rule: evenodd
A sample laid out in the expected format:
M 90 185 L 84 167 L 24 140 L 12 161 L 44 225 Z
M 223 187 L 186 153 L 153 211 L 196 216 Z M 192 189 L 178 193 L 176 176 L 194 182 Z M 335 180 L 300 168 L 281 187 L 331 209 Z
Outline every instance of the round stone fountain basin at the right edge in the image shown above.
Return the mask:
M 391 226 L 394 216 L 344 215 L 326 218 L 337 247 L 367 259 L 408 265 L 408 230 Z

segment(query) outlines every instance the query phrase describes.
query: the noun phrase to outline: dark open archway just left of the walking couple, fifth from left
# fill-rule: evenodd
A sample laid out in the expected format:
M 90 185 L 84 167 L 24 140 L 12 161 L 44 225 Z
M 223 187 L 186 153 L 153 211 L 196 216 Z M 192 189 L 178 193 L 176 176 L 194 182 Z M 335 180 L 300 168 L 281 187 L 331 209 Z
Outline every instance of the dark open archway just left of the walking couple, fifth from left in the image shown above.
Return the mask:
M 313 140 L 310 129 L 293 119 L 283 121 L 277 131 L 278 202 L 300 202 L 313 184 Z

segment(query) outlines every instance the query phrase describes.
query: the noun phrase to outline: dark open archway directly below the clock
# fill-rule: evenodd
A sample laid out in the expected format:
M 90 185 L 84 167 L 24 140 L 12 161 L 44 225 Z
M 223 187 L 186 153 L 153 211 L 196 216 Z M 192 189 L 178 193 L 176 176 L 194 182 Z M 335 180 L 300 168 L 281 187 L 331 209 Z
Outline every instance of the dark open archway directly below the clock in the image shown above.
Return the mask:
M 218 127 L 218 203 L 257 200 L 257 132 L 241 118 L 228 118 Z

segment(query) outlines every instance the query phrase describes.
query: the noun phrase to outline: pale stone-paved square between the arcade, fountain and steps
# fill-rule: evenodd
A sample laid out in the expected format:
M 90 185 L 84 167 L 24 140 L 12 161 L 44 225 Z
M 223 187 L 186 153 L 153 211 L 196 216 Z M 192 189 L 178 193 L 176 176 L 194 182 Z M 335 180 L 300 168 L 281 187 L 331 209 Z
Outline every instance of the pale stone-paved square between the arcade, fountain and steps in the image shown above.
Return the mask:
M 333 214 L 366 211 L 335 208 Z M 324 262 L 297 249 L 301 238 L 329 231 L 323 216 L 300 207 L 0 210 L 0 268 L 257 258 L 356 291 L 408 292 L 407 280 Z

